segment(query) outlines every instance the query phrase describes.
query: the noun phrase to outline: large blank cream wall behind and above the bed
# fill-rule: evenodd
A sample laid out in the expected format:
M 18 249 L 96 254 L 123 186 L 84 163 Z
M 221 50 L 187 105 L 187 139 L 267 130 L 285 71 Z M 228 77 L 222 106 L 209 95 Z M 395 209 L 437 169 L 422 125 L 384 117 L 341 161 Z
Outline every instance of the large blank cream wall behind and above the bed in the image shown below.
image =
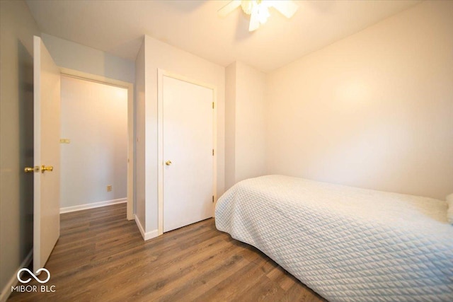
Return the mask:
M 425 1 L 268 76 L 268 172 L 453 192 L 453 2 Z

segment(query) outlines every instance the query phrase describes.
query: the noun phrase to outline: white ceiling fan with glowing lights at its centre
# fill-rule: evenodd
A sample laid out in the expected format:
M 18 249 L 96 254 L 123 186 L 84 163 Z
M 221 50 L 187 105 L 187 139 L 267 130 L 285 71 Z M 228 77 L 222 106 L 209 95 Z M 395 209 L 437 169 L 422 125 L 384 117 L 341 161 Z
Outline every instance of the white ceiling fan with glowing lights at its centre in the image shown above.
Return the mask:
M 268 21 L 269 8 L 273 7 L 286 18 L 291 18 L 299 6 L 292 0 L 233 0 L 217 11 L 219 16 L 224 17 L 239 6 L 247 15 L 250 15 L 249 31 L 257 30 L 260 24 Z

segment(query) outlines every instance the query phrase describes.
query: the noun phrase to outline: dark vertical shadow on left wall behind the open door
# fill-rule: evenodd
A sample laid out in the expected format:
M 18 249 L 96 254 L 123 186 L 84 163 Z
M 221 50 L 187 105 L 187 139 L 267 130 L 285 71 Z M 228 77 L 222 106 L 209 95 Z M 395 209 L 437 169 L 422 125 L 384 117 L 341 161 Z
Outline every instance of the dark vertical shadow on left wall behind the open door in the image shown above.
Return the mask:
M 21 259 L 33 248 L 33 56 L 18 41 L 19 213 Z

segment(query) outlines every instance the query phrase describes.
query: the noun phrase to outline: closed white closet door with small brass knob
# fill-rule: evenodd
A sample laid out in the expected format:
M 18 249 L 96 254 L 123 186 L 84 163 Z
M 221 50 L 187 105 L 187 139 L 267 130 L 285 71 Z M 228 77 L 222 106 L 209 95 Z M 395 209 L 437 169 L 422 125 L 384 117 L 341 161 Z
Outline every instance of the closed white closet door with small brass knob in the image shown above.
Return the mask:
M 212 89 L 164 76 L 164 232 L 212 217 Z

